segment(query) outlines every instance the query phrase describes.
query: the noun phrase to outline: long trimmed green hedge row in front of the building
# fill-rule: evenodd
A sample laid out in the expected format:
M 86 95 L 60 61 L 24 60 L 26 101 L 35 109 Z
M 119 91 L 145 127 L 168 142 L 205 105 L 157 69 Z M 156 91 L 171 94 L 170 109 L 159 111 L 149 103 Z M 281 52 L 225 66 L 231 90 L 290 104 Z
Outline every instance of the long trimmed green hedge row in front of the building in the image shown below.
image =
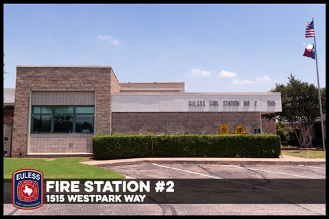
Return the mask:
M 280 136 L 112 135 L 94 136 L 95 159 L 136 157 L 279 157 Z

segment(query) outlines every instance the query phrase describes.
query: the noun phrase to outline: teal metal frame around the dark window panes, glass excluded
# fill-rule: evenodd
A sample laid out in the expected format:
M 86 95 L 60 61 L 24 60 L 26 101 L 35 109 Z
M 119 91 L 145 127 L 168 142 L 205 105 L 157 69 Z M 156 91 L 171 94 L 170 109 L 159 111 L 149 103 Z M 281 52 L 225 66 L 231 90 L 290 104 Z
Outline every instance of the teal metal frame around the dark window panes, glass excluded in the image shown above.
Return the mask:
M 35 114 L 34 113 L 34 107 L 51 107 L 52 111 L 51 114 L 43 114 L 41 111 L 40 113 Z M 69 132 L 54 132 L 54 125 L 55 125 L 55 107 L 73 107 L 73 131 L 71 133 Z M 76 113 L 76 107 L 94 107 L 93 113 Z M 51 126 L 50 126 L 50 132 L 34 132 L 33 131 L 33 125 L 34 125 L 34 116 L 40 116 L 40 115 L 50 115 L 51 116 Z M 93 132 L 76 132 L 76 116 L 79 115 L 86 115 L 86 116 L 93 116 Z M 73 133 L 84 133 L 84 134 L 95 134 L 95 105 L 32 105 L 32 114 L 31 114 L 31 134 L 73 134 Z

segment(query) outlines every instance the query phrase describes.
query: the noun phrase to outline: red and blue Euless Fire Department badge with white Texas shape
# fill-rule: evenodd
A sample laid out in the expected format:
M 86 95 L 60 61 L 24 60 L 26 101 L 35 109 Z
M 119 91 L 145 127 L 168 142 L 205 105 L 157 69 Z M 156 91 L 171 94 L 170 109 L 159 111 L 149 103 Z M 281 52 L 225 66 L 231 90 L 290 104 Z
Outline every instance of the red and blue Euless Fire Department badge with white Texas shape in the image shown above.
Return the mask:
M 19 209 L 36 209 L 43 205 L 43 173 L 17 170 L 12 174 L 12 205 Z

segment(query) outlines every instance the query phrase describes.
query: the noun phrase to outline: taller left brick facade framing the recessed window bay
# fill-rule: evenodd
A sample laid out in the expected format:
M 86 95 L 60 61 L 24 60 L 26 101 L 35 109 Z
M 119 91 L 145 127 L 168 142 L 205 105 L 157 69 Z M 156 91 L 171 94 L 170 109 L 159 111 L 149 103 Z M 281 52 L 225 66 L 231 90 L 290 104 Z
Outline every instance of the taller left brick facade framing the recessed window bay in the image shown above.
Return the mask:
M 17 66 L 12 156 L 27 155 L 30 90 L 95 90 L 95 131 L 110 133 L 111 77 L 109 66 Z

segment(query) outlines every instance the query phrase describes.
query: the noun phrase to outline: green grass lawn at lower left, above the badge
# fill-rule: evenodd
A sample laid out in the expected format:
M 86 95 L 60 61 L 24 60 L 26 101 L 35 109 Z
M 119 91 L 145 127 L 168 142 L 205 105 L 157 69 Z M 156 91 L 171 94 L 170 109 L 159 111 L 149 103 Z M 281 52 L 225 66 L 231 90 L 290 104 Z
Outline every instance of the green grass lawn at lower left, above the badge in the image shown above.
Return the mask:
M 3 157 L 3 179 L 12 179 L 12 173 L 21 169 L 35 169 L 43 172 L 45 179 L 124 179 L 123 175 L 96 166 L 80 164 L 88 161 L 84 157 L 5 158 Z

